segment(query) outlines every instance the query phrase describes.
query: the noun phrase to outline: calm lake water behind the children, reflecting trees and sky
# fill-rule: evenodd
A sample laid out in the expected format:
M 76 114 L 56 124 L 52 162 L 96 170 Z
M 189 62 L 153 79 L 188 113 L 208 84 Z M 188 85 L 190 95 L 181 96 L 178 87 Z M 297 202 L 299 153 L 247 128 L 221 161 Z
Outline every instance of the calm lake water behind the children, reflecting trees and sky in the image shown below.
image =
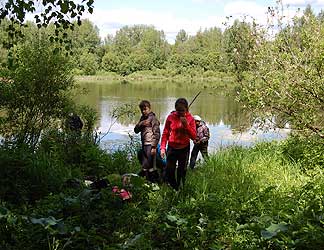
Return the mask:
M 281 140 L 289 133 L 288 129 L 262 132 L 253 125 L 249 115 L 242 111 L 234 96 L 222 89 L 208 87 L 212 85 L 190 82 L 87 82 L 80 83 L 87 93 L 78 95 L 77 102 L 97 110 L 97 128 L 101 137 L 104 136 L 101 146 L 108 150 L 127 143 L 129 135 L 134 135 L 133 128 L 140 117 L 137 107 L 141 100 L 151 102 L 152 111 L 160 119 L 162 132 L 165 118 L 174 110 L 176 99 L 185 97 L 190 103 L 199 91 L 201 94 L 190 107 L 190 112 L 199 115 L 207 123 L 211 132 L 210 151 L 229 145 L 251 146 L 260 141 Z M 112 110 L 125 103 L 138 109 L 136 120 L 126 117 L 114 123 Z M 106 134 L 113 123 L 110 132 Z

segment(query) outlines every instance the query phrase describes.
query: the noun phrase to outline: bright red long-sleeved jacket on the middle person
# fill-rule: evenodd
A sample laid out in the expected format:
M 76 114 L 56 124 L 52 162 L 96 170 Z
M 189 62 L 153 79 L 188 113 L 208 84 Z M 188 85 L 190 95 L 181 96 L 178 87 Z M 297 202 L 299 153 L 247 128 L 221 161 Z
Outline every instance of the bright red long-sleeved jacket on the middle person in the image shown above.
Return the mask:
M 190 139 L 196 139 L 196 124 L 192 115 L 187 112 L 187 126 L 183 126 L 180 121 L 180 116 L 176 111 L 168 115 L 161 139 L 161 150 L 165 150 L 166 144 L 173 148 L 185 148 L 190 144 Z

